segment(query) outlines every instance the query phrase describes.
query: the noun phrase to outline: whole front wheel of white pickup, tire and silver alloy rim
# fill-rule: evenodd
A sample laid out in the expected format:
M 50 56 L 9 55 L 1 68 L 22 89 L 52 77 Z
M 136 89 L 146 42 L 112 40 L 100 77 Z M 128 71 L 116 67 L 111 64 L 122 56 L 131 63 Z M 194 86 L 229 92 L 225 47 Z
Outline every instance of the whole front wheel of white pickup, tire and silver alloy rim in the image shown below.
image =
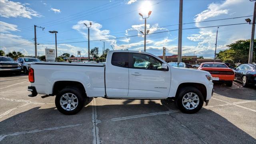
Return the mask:
M 186 114 L 198 112 L 204 104 L 202 93 L 195 87 L 184 87 L 178 91 L 176 105 Z

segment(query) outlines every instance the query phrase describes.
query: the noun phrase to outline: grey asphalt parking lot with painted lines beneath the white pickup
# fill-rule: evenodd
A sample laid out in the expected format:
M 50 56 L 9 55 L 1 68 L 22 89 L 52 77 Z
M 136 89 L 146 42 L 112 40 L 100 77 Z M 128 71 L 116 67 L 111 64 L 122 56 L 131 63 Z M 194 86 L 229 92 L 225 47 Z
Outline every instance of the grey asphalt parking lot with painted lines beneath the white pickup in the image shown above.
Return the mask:
M 0 78 L 0 143 L 256 143 L 256 89 L 214 85 L 196 114 L 164 100 L 94 98 L 78 114 L 58 112 L 54 96 L 28 97 L 28 76 Z

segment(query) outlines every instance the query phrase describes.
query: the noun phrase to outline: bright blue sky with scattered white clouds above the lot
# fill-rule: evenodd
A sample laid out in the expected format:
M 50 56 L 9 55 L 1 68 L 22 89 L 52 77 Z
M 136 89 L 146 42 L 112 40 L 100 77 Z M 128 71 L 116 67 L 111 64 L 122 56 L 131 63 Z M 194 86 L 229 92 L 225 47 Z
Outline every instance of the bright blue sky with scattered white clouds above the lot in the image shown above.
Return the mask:
M 249 16 L 252 19 L 254 2 L 249 0 L 184 0 L 183 23 L 201 22 Z M 144 7 L 143 7 L 144 6 Z M 112 44 L 115 50 L 144 49 L 144 37 L 139 31 L 144 31 L 144 20 L 138 14 L 152 10 L 147 19 L 147 52 L 162 55 L 162 47 L 167 48 L 166 55 L 178 52 L 178 0 L 0 0 L 0 49 L 6 53 L 21 51 L 25 55 L 34 55 L 34 24 L 45 27 L 44 31 L 37 28 L 38 52 L 44 55 L 44 47 L 55 48 L 54 34 L 49 30 L 56 30 L 58 55 L 70 53 L 77 55 L 81 50 L 82 56 L 87 56 L 88 43 L 87 28 L 89 24 L 90 48 L 99 47 L 102 53 L 104 40 L 105 48 Z M 246 17 L 247 18 L 247 17 Z M 183 30 L 182 55 L 193 55 L 207 58 L 214 57 L 216 29 L 200 28 L 225 24 L 244 23 L 245 18 L 220 20 L 184 24 L 183 28 L 197 28 Z M 174 25 L 174 26 L 170 26 Z M 164 32 L 175 30 L 171 32 Z M 156 32 L 162 32 L 154 34 Z M 249 39 L 251 25 L 220 26 L 218 32 L 217 52 L 225 50 L 227 44 L 236 40 Z M 125 36 L 128 38 L 113 39 Z M 74 43 L 70 43 L 74 42 Z

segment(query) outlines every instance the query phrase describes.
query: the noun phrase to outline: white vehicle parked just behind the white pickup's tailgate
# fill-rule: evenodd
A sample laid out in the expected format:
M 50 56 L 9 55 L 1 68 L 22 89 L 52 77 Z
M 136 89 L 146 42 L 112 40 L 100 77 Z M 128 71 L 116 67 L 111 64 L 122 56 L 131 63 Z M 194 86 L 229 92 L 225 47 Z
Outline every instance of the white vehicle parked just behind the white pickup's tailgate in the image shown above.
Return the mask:
M 28 74 L 30 64 L 32 64 L 33 62 L 40 62 L 40 60 L 38 60 L 38 58 L 18 58 L 17 62 L 21 63 L 21 68 L 24 74 Z

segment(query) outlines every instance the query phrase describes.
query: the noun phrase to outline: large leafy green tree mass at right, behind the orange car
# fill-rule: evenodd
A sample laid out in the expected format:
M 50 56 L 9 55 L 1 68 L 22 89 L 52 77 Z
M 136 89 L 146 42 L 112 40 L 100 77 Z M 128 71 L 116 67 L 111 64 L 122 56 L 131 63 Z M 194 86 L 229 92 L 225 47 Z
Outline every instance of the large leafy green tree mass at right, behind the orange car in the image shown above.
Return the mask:
M 256 40 L 254 40 L 254 51 Z M 217 58 L 220 58 L 222 61 L 233 60 L 234 63 L 248 63 L 249 49 L 250 49 L 250 40 L 238 40 L 232 44 L 227 45 L 229 49 L 220 50 L 217 54 Z M 254 59 L 254 58 L 253 58 Z

